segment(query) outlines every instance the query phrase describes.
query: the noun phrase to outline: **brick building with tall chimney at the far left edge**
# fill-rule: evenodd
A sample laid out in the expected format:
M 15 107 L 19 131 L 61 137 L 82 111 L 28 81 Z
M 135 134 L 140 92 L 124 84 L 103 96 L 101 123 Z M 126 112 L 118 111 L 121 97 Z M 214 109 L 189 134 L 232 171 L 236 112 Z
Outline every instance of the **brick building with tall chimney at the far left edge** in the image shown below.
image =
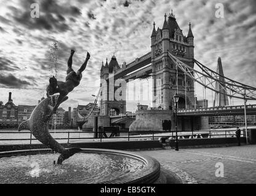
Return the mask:
M 9 92 L 8 102 L 0 102 L 0 127 L 17 127 L 18 107 L 12 102 L 12 92 Z

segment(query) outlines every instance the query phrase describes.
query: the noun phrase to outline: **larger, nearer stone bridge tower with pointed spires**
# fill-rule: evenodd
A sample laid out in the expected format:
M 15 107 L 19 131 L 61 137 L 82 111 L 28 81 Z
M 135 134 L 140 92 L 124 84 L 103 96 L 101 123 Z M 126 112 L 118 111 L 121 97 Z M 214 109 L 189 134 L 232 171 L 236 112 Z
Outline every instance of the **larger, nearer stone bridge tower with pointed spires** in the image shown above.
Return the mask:
M 178 108 L 194 107 L 194 83 L 181 70 L 177 70 L 168 52 L 175 55 L 188 66 L 194 67 L 194 36 L 189 25 L 188 35 L 183 36 L 175 15 L 170 13 L 168 20 L 164 15 L 162 29 L 155 29 L 151 34 L 151 64 L 153 78 L 153 107 L 169 110 L 172 97 L 177 91 L 180 96 Z

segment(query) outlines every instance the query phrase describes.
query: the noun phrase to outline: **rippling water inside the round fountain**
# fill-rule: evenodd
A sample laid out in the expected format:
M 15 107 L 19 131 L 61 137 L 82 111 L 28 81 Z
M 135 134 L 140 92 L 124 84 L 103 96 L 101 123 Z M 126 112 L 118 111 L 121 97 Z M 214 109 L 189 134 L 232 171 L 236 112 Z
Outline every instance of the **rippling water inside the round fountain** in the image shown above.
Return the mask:
M 52 153 L 0 158 L 1 183 L 102 183 L 143 172 L 145 162 L 125 154 L 77 153 L 52 165 Z M 32 163 L 32 164 L 31 164 Z

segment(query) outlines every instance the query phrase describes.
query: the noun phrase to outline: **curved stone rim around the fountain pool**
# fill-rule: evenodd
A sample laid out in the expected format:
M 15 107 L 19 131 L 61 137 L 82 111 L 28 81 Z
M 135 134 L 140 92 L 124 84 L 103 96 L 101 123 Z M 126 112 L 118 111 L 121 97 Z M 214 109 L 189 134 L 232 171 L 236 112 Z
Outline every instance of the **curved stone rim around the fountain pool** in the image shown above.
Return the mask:
M 145 167 L 139 172 L 130 176 L 119 177 L 110 181 L 103 181 L 100 184 L 151 184 L 159 178 L 161 166 L 158 160 L 150 156 L 138 155 L 136 153 L 130 153 L 127 151 L 115 150 L 115 149 L 98 149 L 98 148 L 81 148 L 79 153 L 108 153 L 108 154 L 122 154 L 124 156 L 130 156 L 134 159 L 141 160 L 145 163 Z M 53 153 L 52 149 L 26 149 L 18 151 L 4 151 L 0 152 L 1 157 L 21 156 L 28 154 L 38 153 Z M 79 183 L 82 183 L 79 182 Z

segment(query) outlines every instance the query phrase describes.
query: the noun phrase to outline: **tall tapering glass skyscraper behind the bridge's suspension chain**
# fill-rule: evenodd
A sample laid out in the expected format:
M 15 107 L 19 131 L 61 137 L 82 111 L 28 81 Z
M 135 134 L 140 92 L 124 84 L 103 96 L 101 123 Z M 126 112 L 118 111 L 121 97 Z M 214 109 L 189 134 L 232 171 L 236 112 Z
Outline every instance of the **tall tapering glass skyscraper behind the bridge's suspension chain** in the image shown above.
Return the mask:
M 219 74 L 219 77 L 218 81 L 216 81 L 215 83 L 215 89 L 218 92 L 215 92 L 214 107 L 222 107 L 229 104 L 228 94 L 225 88 L 225 78 L 222 67 L 222 59 L 220 57 L 218 58 L 217 73 Z

